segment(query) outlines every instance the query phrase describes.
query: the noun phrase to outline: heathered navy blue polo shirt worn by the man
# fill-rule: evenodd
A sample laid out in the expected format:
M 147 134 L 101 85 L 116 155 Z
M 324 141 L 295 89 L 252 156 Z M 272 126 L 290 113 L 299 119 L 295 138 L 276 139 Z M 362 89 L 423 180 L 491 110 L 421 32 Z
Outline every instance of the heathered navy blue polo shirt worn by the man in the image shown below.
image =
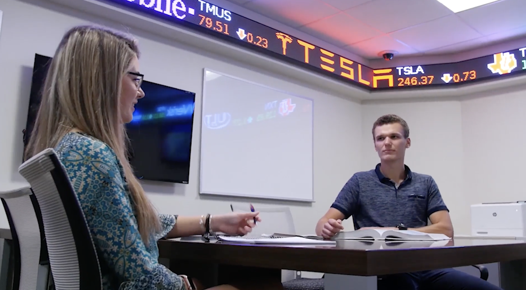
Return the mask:
M 429 175 L 411 172 L 406 166 L 406 179 L 398 186 L 376 169 L 358 172 L 343 186 L 332 204 L 352 216 L 355 229 L 361 227 L 407 227 L 428 225 L 428 217 L 446 210 L 440 191 Z

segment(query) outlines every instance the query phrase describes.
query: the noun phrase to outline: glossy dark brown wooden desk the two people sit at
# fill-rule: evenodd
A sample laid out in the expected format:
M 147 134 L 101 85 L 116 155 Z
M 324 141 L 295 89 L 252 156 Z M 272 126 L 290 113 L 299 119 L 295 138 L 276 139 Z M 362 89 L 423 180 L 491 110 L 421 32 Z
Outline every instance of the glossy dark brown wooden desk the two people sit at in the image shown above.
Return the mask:
M 194 261 L 201 267 L 215 264 L 256 267 L 259 268 L 258 271 L 294 269 L 329 274 L 378 276 L 526 260 L 526 243 L 509 239 L 455 239 L 440 247 L 433 247 L 429 242 L 387 246 L 380 241 L 338 241 L 336 246 L 278 246 L 167 240 L 159 241 L 159 256 L 170 259 L 170 266 Z

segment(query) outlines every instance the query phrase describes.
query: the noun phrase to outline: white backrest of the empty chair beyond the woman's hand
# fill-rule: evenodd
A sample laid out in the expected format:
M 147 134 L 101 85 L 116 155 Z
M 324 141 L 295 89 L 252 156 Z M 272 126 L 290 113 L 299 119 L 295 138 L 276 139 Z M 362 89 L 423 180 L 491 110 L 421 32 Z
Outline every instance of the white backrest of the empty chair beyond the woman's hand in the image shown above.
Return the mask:
M 250 212 L 250 205 L 232 205 L 232 212 Z M 294 219 L 288 206 L 282 207 L 256 207 L 261 223 L 252 229 L 247 236 L 261 236 L 261 234 L 296 234 Z

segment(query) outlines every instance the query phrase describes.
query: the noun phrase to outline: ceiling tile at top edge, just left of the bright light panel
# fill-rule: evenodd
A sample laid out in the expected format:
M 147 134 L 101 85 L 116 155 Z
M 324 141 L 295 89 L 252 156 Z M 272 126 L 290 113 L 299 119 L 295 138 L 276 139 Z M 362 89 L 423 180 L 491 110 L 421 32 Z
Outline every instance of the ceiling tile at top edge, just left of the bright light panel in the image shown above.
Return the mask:
M 376 0 L 345 12 L 383 33 L 453 15 L 436 0 Z

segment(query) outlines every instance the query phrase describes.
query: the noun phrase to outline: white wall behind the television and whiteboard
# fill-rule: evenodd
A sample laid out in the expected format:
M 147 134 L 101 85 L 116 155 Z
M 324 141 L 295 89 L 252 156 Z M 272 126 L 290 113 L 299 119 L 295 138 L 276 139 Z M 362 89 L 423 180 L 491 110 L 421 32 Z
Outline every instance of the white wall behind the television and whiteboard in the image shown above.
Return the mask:
M 47 4 L 44 6 L 49 7 Z M 16 0 L 2 0 L 4 11 L 0 35 L 0 80 L 3 102 L 0 106 L 0 190 L 21 186 L 24 179 L 17 168 L 22 156 L 22 129 L 25 128 L 31 74 L 35 53 L 53 56 L 64 32 L 71 26 L 94 21 L 116 28 L 122 26 L 100 21 L 92 16 L 48 9 Z M 57 12 L 60 11 L 60 12 Z M 285 204 L 291 206 L 298 232 L 311 233 L 341 186 L 360 167 L 360 104 L 343 96 L 328 95 L 309 89 L 308 84 L 284 81 L 286 77 L 262 72 L 257 67 L 244 67 L 234 59 L 200 52 L 194 47 L 166 41 L 132 29 L 138 35 L 142 56 L 140 71 L 148 81 L 196 93 L 196 117 L 191 148 L 189 184 L 145 182 L 145 190 L 160 212 L 176 214 L 221 213 L 230 203 L 252 202 L 258 206 Z M 229 197 L 198 195 L 198 161 L 200 135 L 200 100 L 203 68 L 239 76 L 249 81 L 312 98 L 315 102 L 315 199 L 316 203 L 274 202 Z M 344 124 L 344 125 L 342 125 Z M 0 211 L 0 227 L 7 227 Z

